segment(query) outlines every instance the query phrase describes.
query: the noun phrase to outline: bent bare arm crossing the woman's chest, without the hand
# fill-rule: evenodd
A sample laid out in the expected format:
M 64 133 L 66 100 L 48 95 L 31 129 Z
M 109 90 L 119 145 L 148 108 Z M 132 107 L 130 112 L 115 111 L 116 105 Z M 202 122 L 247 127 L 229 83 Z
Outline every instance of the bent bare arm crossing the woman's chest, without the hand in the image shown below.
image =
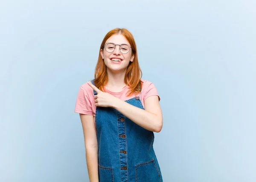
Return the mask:
M 158 96 L 153 95 L 144 101 L 145 110 L 137 108 L 116 98 L 113 108 L 124 114 L 137 125 L 154 132 L 160 132 L 163 126 L 163 115 Z

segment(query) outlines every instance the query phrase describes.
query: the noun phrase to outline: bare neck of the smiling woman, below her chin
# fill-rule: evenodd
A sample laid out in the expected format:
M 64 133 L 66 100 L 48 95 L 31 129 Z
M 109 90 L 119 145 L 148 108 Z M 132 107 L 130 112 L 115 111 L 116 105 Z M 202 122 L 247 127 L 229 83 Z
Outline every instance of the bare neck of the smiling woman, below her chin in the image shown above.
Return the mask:
M 125 71 L 113 72 L 108 70 L 108 83 L 106 86 L 110 88 L 125 87 Z

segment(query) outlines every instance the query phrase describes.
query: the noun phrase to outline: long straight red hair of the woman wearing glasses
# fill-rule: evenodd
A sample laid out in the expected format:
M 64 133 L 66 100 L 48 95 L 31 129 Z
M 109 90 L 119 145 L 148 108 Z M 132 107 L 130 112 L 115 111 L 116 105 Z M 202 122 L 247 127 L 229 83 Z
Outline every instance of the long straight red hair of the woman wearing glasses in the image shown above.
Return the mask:
M 111 37 L 114 34 L 122 34 L 128 42 L 131 44 L 131 49 L 132 49 L 132 54 L 134 55 L 134 60 L 133 62 L 130 61 L 129 65 L 127 66 L 127 70 L 125 72 L 125 84 L 129 86 L 129 92 L 128 96 L 131 96 L 133 93 L 137 94 L 140 90 L 142 89 L 142 82 L 141 82 L 141 77 L 142 77 L 142 71 L 139 66 L 138 62 L 138 55 L 137 55 L 137 47 L 136 43 L 134 40 L 133 35 L 131 32 L 129 32 L 125 28 L 115 28 L 111 31 L 109 31 L 104 39 L 102 40 L 100 50 L 104 49 L 104 44 L 108 40 L 109 37 Z M 108 72 L 107 72 L 107 66 L 104 63 L 104 60 L 101 57 L 100 51 L 99 51 L 99 58 L 98 62 L 95 68 L 95 73 L 94 73 L 94 83 L 97 88 L 101 91 L 105 91 L 104 85 L 108 83 Z

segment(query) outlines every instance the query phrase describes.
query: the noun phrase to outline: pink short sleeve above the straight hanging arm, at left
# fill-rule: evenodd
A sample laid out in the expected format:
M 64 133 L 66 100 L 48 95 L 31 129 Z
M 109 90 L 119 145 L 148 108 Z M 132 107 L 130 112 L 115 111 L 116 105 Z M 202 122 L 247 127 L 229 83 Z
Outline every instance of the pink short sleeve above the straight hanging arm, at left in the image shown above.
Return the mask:
M 76 98 L 75 112 L 93 115 L 92 104 L 89 99 L 89 94 L 82 86 L 80 87 Z

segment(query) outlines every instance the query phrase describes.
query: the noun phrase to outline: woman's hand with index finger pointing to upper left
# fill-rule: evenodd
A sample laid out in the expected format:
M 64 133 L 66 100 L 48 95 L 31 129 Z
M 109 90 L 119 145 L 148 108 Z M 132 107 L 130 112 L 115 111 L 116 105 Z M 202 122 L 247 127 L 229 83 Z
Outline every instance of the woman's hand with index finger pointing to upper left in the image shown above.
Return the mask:
M 96 106 L 100 107 L 114 107 L 114 104 L 117 102 L 118 98 L 114 97 L 111 94 L 108 94 L 104 91 L 99 90 L 91 82 L 87 82 L 93 90 L 97 92 L 97 95 L 94 96 L 94 101 Z

